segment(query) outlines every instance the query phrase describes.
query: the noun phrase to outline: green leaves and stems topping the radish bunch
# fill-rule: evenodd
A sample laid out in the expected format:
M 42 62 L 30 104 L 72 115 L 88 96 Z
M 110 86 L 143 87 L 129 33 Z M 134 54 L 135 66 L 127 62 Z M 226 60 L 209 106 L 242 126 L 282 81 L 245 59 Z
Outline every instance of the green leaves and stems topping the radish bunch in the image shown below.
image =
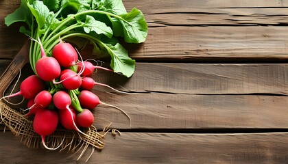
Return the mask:
M 84 38 L 94 45 L 94 52 L 110 55 L 110 67 L 126 77 L 131 77 L 135 61 L 117 40 L 123 37 L 128 43 L 141 43 L 147 37 L 147 23 L 143 13 L 133 8 L 126 12 L 121 0 L 21 0 L 21 5 L 5 17 L 5 24 L 24 22 L 20 31 L 31 38 L 40 38 L 47 55 L 61 37 L 79 44 Z M 76 38 L 76 39 L 75 39 Z M 40 59 L 40 48 L 35 42 L 30 46 L 30 64 Z

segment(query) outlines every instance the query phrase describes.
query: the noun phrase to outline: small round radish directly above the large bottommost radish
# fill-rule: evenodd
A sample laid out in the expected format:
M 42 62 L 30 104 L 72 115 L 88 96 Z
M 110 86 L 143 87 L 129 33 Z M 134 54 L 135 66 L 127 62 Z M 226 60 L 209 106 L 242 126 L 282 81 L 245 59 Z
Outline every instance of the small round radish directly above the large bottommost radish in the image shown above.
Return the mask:
M 47 90 L 39 92 L 34 98 L 35 106 L 40 108 L 48 107 L 52 102 L 52 96 Z M 32 105 L 32 106 L 34 106 Z

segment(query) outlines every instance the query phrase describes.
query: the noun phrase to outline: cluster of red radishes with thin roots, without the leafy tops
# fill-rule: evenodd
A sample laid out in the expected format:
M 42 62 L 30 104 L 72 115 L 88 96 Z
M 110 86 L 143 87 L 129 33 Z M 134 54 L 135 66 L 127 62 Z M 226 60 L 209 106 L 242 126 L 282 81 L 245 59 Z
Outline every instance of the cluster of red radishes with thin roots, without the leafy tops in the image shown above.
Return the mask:
M 56 149 L 45 145 L 45 137 L 56 131 L 59 122 L 64 128 L 82 133 L 80 127 L 93 125 L 91 109 L 99 104 L 108 105 L 89 91 L 96 84 L 104 85 L 91 78 L 95 68 L 102 67 L 93 66 L 89 61 L 82 61 L 82 58 L 78 60 L 80 54 L 68 42 L 60 40 L 53 47 L 52 56 L 47 57 L 40 40 L 34 41 L 39 43 L 41 49 L 41 58 L 36 62 L 37 74 L 27 77 L 21 83 L 19 92 L 5 97 L 22 95 L 28 99 L 29 113 L 25 115 L 34 115 L 33 128 L 42 137 L 43 146 Z

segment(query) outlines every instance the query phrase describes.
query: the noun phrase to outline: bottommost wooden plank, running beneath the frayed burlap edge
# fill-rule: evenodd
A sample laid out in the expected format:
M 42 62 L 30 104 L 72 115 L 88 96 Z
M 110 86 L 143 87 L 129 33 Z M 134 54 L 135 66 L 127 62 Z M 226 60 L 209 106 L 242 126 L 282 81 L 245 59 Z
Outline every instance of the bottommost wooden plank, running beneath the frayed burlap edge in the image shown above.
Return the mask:
M 2 163 L 84 163 L 77 155 L 27 148 L 10 133 L 0 133 Z M 286 163 L 287 133 L 108 134 L 106 147 L 88 163 Z

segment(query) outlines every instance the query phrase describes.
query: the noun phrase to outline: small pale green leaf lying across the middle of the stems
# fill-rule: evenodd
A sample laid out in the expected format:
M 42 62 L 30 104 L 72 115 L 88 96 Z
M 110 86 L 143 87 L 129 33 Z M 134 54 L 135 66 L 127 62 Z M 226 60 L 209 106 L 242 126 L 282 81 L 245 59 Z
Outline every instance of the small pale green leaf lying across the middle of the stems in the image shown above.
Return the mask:
M 113 35 L 113 31 L 110 27 L 108 27 L 105 23 L 95 20 L 93 16 L 89 15 L 86 16 L 84 31 L 86 33 L 90 33 L 91 31 L 95 31 L 97 34 L 103 33 L 108 38 L 111 38 Z

